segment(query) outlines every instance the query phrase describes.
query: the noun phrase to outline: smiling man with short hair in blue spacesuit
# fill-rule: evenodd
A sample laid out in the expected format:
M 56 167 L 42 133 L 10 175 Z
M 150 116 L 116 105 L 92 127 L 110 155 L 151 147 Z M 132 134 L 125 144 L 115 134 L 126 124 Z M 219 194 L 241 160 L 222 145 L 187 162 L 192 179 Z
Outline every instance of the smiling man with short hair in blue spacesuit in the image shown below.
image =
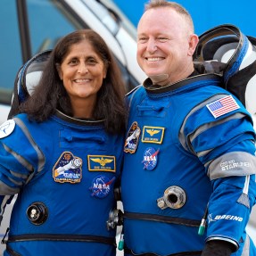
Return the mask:
M 137 62 L 148 78 L 128 94 L 125 255 L 256 255 L 245 232 L 256 197 L 252 117 L 222 88 L 248 57 L 249 43 L 239 45 L 235 70 L 194 62 L 198 42 L 182 6 L 146 6 Z

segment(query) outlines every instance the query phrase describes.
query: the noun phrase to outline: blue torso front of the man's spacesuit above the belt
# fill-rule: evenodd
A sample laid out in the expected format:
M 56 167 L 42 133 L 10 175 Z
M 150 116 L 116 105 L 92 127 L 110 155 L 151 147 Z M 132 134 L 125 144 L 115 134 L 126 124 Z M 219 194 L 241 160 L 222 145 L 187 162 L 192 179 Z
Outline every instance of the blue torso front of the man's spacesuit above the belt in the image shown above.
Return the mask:
M 205 177 L 202 163 L 192 153 L 186 152 L 178 139 L 187 112 L 199 100 L 186 103 L 183 97 L 174 94 L 156 100 L 146 95 L 130 111 L 122 174 L 125 211 L 186 218 L 186 207 L 194 204 L 190 218 L 201 218 L 202 210 L 198 211 L 200 206 L 194 202 L 200 200 L 206 205 L 210 194 L 209 188 L 206 188 L 209 180 Z M 184 107 L 180 108 L 182 101 Z M 204 193 L 194 190 L 194 187 L 201 185 Z M 170 186 L 182 188 L 188 195 L 186 203 L 180 209 L 161 210 L 157 199 Z M 141 198 L 144 198 L 144 203 L 141 203 Z

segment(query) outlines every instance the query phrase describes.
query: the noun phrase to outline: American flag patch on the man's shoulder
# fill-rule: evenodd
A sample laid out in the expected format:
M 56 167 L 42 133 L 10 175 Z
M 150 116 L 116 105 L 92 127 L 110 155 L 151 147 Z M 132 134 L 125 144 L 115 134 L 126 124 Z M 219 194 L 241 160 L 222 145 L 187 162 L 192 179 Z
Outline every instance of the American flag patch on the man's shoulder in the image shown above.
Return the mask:
M 214 118 L 218 118 L 230 111 L 235 111 L 240 108 L 239 105 L 235 103 L 235 100 L 231 95 L 221 98 L 213 103 L 207 104 L 206 106 L 211 111 L 211 114 L 214 116 Z

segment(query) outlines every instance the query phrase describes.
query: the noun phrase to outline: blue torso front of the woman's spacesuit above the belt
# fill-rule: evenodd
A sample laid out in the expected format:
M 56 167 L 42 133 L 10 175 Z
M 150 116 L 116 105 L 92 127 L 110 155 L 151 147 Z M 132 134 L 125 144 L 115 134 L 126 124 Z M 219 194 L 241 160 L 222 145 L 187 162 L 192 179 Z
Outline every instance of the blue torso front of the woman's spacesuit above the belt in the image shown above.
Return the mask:
M 33 132 L 37 124 L 27 125 L 34 144 L 45 156 L 45 167 L 19 194 L 10 235 L 51 234 L 57 230 L 60 235 L 114 237 L 114 230 L 102 227 L 106 227 L 109 211 L 115 207 L 113 189 L 120 175 L 122 136 L 110 136 L 102 126 L 79 127 L 49 120 L 35 129 L 44 130 L 43 137 Z M 46 209 L 47 216 L 40 225 L 28 218 L 34 202 Z M 87 219 L 96 221 L 88 223 Z

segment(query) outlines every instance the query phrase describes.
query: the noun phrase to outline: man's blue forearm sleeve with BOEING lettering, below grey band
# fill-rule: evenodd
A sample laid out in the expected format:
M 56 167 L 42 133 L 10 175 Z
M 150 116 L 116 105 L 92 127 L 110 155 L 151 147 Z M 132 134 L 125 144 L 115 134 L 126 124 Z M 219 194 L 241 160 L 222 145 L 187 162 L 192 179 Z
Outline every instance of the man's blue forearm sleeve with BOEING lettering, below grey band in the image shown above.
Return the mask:
M 207 240 L 227 240 L 238 248 L 255 204 L 255 175 L 219 178 L 212 186 Z

